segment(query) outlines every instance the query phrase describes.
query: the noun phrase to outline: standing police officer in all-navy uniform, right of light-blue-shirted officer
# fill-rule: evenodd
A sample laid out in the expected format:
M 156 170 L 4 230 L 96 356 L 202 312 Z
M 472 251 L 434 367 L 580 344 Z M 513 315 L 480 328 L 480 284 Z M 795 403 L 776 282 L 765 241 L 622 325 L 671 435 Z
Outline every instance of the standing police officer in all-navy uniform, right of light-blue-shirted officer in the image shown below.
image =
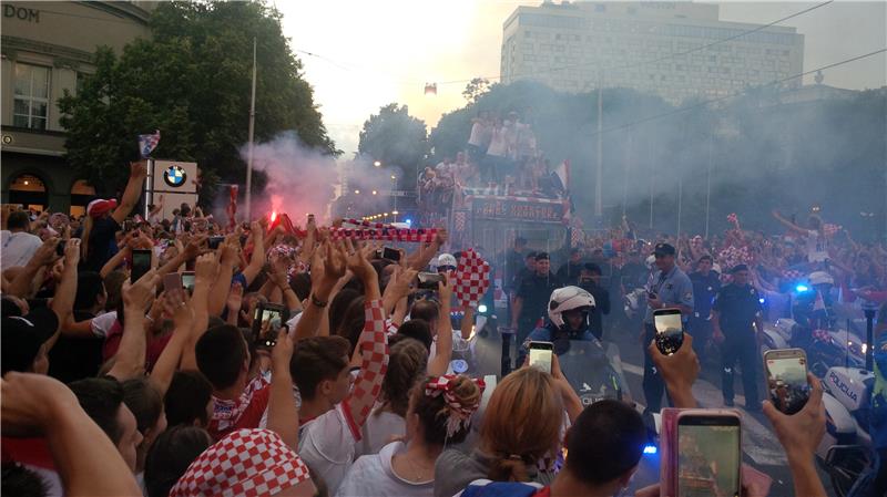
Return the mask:
M 763 329 L 757 290 L 748 283 L 748 267 L 736 265 L 733 281 L 722 288 L 712 304 L 714 340 L 721 343 L 721 392 L 724 405 L 733 406 L 733 367 L 738 360 L 745 410 L 761 411 L 757 398 L 757 370 L 761 365 L 757 332 Z M 754 328 L 753 328 L 754 327 Z

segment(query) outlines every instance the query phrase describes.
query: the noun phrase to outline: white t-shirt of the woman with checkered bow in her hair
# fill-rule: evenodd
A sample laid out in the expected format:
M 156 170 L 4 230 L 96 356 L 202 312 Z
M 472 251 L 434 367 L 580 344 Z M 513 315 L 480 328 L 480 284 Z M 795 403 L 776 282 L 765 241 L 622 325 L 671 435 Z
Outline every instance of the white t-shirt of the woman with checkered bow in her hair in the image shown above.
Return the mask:
M 395 474 L 391 459 L 407 449 L 402 442 L 394 442 L 379 454 L 363 456 L 354 463 L 336 497 L 377 497 L 383 495 L 404 497 L 431 497 L 435 480 L 412 483 Z

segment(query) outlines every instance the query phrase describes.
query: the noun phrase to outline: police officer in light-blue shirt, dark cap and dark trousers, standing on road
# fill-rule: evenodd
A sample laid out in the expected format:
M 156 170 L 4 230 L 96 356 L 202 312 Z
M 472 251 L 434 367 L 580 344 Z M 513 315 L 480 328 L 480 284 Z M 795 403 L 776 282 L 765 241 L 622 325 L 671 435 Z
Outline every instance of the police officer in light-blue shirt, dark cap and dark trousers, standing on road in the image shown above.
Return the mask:
M 656 244 L 653 248 L 656 270 L 646 281 L 646 314 L 644 315 L 644 398 L 650 412 L 659 412 L 662 406 L 662 394 L 665 383 L 653 365 L 653 359 L 646 345 L 656 334 L 653 325 L 653 311 L 656 309 L 676 308 L 686 320 L 693 312 L 693 283 L 686 273 L 674 263 L 674 247 L 669 244 Z

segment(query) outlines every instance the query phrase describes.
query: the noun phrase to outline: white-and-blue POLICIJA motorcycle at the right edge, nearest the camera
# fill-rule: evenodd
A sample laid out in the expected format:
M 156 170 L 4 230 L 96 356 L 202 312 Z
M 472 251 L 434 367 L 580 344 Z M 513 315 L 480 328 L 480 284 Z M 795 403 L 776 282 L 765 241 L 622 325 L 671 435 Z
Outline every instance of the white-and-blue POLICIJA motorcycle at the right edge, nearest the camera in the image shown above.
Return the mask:
M 875 375 L 860 367 L 830 367 L 823 377 L 826 433 L 816 460 L 844 497 L 871 462 L 868 420 Z

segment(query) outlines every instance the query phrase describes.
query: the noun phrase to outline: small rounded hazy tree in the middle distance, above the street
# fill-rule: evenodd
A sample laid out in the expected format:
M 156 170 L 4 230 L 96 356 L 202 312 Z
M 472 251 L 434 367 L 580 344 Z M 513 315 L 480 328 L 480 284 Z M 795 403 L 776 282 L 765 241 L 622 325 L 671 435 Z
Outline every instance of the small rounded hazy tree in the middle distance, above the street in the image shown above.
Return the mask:
M 399 167 L 400 185 L 411 187 L 417 168 L 428 153 L 425 122 L 409 115 L 406 105 L 388 104 L 364 123 L 357 151 L 385 166 Z

